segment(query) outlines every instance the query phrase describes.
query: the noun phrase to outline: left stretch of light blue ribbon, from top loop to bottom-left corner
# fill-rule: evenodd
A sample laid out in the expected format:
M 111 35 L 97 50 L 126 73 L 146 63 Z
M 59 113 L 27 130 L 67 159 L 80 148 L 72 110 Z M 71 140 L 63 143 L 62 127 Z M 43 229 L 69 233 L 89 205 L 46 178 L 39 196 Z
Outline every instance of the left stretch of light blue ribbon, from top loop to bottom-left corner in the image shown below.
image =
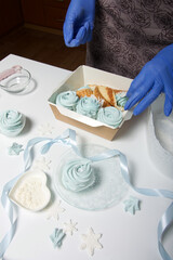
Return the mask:
M 4 208 L 4 210 L 6 211 L 6 214 L 10 220 L 10 230 L 4 235 L 3 239 L 0 243 L 0 259 L 2 259 L 2 260 L 3 260 L 3 256 L 8 249 L 11 240 L 14 237 L 14 234 L 16 231 L 16 224 L 17 224 L 17 216 L 14 217 L 15 205 L 9 199 L 9 192 L 15 185 L 15 183 L 21 178 L 21 176 L 30 168 L 32 160 L 34 160 L 34 155 L 32 155 L 34 146 L 40 142 L 45 142 L 45 141 L 48 143 L 42 146 L 41 154 L 48 153 L 48 151 L 54 143 L 58 143 L 58 144 L 64 144 L 64 145 L 72 147 L 72 150 L 76 152 L 76 154 L 78 154 L 80 156 L 80 152 L 77 147 L 77 142 L 76 142 L 76 132 L 71 129 L 67 129 L 63 134 L 61 134 L 59 136 L 57 136 L 55 139 L 35 138 L 35 139 L 31 139 L 30 141 L 28 141 L 27 146 L 24 151 L 24 171 L 21 174 L 18 174 L 17 177 L 15 177 L 14 179 L 12 179 L 11 181 L 9 181 L 3 186 L 3 191 L 2 191 L 2 195 L 1 195 L 1 204 Z

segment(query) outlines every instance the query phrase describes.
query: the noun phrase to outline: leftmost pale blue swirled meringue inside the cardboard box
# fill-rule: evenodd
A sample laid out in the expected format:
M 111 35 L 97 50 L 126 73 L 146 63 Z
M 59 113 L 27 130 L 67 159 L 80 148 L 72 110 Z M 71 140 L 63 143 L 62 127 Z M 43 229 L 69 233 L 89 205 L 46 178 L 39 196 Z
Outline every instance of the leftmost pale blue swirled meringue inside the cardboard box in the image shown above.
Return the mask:
M 70 110 L 75 110 L 79 101 L 75 91 L 65 91 L 56 96 L 56 105 L 62 105 Z

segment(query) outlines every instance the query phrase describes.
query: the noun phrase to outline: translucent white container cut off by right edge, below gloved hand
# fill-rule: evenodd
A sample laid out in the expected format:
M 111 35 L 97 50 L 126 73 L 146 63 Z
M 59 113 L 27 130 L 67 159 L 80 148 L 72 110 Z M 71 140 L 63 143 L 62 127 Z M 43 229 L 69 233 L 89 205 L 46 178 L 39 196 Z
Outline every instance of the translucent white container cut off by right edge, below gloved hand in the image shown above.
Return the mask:
M 162 174 L 173 179 L 173 113 L 163 113 L 164 95 L 152 104 L 148 116 L 148 148 L 150 158 Z

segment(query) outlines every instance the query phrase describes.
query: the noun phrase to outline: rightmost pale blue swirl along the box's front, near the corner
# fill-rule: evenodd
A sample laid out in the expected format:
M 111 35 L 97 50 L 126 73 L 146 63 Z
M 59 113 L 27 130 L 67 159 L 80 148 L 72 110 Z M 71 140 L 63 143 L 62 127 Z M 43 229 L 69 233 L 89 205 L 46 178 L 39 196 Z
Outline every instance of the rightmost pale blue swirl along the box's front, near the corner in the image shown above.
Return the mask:
M 116 107 L 107 106 L 98 110 L 97 120 L 118 128 L 122 121 L 122 113 Z

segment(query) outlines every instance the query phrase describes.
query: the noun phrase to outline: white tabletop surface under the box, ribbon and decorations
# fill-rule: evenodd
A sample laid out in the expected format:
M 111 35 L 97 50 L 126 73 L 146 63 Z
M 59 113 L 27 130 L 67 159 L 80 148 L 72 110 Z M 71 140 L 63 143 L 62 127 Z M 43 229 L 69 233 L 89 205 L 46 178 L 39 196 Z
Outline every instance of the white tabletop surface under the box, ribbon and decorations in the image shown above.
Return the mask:
M 70 127 L 54 118 L 48 104 L 48 99 L 58 83 L 70 72 L 38 63 L 16 55 L 9 55 L 0 62 L 0 70 L 22 65 L 32 76 L 32 82 L 25 94 L 10 94 L 0 90 L 0 112 L 4 109 L 17 109 L 27 117 L 27 125 L 23 133 L 16 138 L 8 138 L 0 134 L 0 192 L 3 185 L 23 170 L 23 153 L 18 156 L 10 156 L 8 147 L 13 142 L 26 145 L 27 141 L 39 135 L 39 128 L 49 123 L 52 127 L 52 138 L 57 136 L 67 128 L 77 131 L 79 143 L 102 144 L 108 148 L 117 148 L 128 157 L 130 174 L 133 184 L 137 187 L 173 190 L 173 180 L 164 177 L 152 164 L 147 148 L 147 112 L 133 117 L 125 122 L 114 141 L 107 141 L 83 130 Z M 49 159 L 52 160 L 48 173 L 52 181 L 52 168 L 56 158 L 64 148 L 52 148 Z M 53 188 L 52 184 L 51 188 Z M 134 216 L 125 212 L 123 204 L 101 211 L 85 211 L 75 208 L 62 200 L 62 207 L 66 210 L 59 214 L 59 220 L 46 219 L 46 210 L 34 213 L 24 209 L 18 211 L 18 224 L 16 234 L 10 244 L 4 258 L 8 260 L 157 260 L 161 259 L 157 245 L 158 222 L 171 204 L 170 199 L 160 197 L 147 197 L 129 190 L 129 195 L 141 199 L 141 211 Z M 72 236 L 68 235 L 61 248 L 53 248 L 50 240 L 54 227 L 62 227 L 69 220 L 77 222 L 78 231 Z M 0 205 L 0 240 L 8 232 L 10 223 Z M 81 234 L 86 233 L 92 226 L 95 233 L 103 234 L 99 239 L 103 249 L 96 249 L 93 257 L 89 257 L 86 250 L 81 250 Z M 173 258 L 173 226 L 167 232 L 163 240 L 164 248 Z

